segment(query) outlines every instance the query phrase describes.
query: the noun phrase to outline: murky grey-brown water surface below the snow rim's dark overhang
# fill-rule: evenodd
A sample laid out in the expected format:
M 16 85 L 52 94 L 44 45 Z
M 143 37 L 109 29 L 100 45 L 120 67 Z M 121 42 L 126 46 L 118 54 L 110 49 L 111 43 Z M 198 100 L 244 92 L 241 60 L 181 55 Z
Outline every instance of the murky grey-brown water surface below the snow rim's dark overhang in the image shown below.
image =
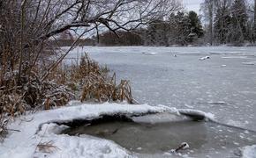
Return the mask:
M 64 131 L 70 135 L 89 134 L 113 140 L 139 157 L 165 157 L 171 149 L 187 142 L 181 154 L 204 157 L 239 157 L 239 147 L 256 143 L 256 134 L 210 122 L 189 119 L 154 121 L 162 116 L 134 118 L 136 122 L 114 121 L 94 126 L 79 126 Z M 148 121 L 145 121 L 148 120 Z

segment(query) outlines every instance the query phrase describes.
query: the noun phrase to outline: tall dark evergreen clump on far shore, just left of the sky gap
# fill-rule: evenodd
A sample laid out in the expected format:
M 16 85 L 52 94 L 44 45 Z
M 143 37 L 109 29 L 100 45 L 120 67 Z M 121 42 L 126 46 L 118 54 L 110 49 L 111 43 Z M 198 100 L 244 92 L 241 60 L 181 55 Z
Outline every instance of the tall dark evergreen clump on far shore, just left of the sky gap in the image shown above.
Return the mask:
M 196 12 L 171 13 L 169 20 L 157 19 L 147 27 L 145 44 L 154 46 L 181 45 L 203 36 L 200 18 Z

